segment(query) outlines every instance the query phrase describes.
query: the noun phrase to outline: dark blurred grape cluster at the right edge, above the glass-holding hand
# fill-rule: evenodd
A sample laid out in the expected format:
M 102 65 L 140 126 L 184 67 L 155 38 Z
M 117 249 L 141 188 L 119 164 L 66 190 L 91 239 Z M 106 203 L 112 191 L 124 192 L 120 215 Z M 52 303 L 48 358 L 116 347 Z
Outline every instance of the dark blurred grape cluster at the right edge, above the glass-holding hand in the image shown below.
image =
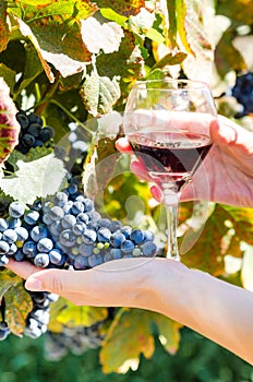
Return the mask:
M 236 115 L 237 118 L 253 114 L 253 72 L 237 77 L 232 96 L 243 106 L 243 110 Z

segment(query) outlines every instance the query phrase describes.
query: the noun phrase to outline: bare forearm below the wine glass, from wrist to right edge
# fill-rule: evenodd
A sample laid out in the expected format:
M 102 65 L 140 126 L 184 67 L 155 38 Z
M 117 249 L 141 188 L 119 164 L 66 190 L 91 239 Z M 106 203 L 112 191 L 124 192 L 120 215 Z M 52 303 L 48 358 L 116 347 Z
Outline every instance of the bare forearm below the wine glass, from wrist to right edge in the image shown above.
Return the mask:
M 253 363 L 253 294 L 170 261 L 154 264 L 149 309 Z

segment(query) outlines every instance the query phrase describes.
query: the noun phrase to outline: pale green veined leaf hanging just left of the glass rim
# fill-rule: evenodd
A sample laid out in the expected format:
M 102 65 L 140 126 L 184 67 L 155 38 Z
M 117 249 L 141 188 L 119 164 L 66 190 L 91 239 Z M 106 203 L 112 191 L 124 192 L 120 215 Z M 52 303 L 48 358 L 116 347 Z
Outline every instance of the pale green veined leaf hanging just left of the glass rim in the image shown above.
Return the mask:
M 120 98 L 118 77 L 110 80 L 108 76 L 98 75 L 97 71 L 93 70 L 91 75 L 86 76 L 80 95 L 87 111 L 94 117 L 108 114 Z

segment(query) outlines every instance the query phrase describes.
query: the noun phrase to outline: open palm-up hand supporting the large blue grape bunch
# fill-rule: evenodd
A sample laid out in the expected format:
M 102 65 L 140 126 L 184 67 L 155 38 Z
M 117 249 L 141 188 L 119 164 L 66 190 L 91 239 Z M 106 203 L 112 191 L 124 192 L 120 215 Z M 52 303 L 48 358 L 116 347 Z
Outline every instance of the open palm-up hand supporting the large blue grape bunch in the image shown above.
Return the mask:
M 86 271 L 69 271 L 39 270 L 10 259 L 7 267 L 26 279 L 28 290 L 55 293 L 77 306 L 148 308 L 154 272 L 164 267 L 165 260 L 121 259 Z

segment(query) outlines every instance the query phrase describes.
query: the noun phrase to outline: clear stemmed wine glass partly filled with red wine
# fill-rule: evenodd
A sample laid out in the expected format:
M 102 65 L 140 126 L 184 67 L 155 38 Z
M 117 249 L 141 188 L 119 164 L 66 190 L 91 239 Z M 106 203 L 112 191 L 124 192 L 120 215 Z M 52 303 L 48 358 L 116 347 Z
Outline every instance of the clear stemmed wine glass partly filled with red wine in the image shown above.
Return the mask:
M 207 84 L 190 80 L 136 82 L 123 116 L 124 133 L 162 191 L 167 214 L 167 258 L 180 260 L 177 226 L 180 193 L 204 160 L 212 140 L 210 123 L 217 119 Z

